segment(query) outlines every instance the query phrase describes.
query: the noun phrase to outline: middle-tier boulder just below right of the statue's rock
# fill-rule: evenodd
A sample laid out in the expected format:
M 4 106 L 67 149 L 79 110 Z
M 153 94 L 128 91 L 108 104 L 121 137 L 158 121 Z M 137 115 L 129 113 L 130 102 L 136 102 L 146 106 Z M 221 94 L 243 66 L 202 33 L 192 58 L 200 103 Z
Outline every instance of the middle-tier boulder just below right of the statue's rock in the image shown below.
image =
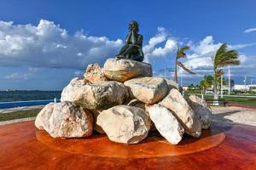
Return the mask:
M 154 104 L 163 99 L 168 91 L 166 81 L 160 77 L 139 77 L 125 82 L 131 98 L 146 104 Z

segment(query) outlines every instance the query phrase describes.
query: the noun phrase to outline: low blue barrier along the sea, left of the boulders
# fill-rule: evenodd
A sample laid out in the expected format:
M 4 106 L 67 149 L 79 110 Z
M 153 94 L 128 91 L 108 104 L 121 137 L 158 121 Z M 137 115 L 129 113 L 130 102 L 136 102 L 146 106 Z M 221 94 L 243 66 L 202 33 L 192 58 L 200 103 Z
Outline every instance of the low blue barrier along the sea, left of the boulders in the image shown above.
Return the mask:
M 31 105 L 47 105 L 49 103 L 56 103 L 61 101 L 60 99 L 44 99 L 44 100 L 27 100 L 27 101 L 11 101 L 11 102 L 0 102 L 0 109 L 31 106 Z

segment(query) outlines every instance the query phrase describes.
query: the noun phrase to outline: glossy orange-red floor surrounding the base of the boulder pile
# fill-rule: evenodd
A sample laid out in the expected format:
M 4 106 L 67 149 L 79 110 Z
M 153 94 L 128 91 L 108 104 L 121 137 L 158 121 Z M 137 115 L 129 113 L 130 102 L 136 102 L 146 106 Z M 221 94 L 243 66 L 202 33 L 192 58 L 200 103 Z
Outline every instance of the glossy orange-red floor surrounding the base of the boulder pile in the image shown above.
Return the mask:
M 105 135 L 52 139 L 34 122 L 0 126 L 0 169 L 256 169 L 256 127 L 213 125 L 178 145 L 150 133 L 141 144 Z

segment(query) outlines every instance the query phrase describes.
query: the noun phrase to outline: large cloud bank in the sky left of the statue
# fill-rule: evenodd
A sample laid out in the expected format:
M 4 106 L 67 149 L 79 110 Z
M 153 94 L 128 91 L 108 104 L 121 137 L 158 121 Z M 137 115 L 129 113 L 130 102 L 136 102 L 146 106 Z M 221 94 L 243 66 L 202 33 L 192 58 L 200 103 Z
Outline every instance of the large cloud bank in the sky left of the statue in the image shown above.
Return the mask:
M 69 35 L 48 20 L 38 26 L 0 21 L 0 66 L 84 68 L 116 54 L 122 40 L 92 37 L 82 31 Z

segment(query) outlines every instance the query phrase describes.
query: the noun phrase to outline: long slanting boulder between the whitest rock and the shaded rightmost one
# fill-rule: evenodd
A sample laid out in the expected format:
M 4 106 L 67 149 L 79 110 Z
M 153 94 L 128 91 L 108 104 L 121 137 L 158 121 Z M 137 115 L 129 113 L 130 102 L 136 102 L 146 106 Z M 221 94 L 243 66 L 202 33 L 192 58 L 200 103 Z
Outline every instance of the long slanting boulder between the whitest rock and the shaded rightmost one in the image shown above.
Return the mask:
M 201 136 L 201 122 L 176 88 L 172 88 L 166 98 L 162 99 L 159 104 L 172 111 L 177 120 L 183 125 L 185 133 L 195 138 Z

